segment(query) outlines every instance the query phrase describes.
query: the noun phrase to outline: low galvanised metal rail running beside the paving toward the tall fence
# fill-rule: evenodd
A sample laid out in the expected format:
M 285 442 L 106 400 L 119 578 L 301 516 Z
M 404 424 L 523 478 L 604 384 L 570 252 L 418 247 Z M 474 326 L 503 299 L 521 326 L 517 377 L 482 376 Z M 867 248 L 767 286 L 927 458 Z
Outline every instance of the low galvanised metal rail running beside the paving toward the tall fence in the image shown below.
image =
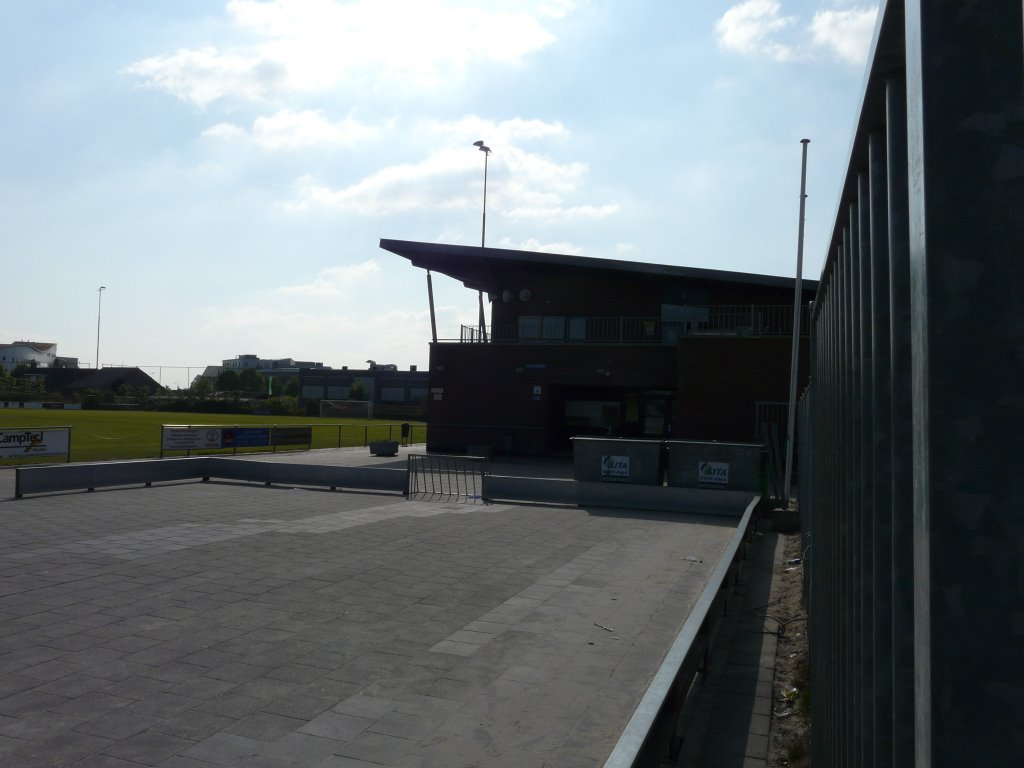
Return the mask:
M 626 730 L 623 731 L 618 742 L 611 751 L 611 755 L 605 761 L 604 768 L 635 768 L 644 765 L 644 758 L 650 756 L 651 750 L 657 751 L 662 748 L 665 753 L 668 753 L 674 752 L 678 745 L 673 743 L 676 724 L 666 723 L 665 718 L 678 718 L 682 710 L 686 693 L 698 671 L 698 666 L 694 665 L 696 659 L 693 655 L 695 652 L 703 653 L 706 651 L 706 648 L 701 647 L 701 643 L 697 641 L 701 636 L 706 638 L 711 620 L 714 617 L 712 606 L 721 593 L 729 588 L 727 577 L 736 562 L 742 559 L 741 545 L 748 537 L 751 518 L 760 501 L 760 497 L 755 497 L 746 505 L 746 510 L 736 526 L 736 531 L 729 540 L 725 552 L 708 579 L 708 584 L 694 603 L 693 609 L 690 610 L 682 629 L 676 635 L 665 660 L 654 674 L 654 679 L 647 686 L 647 691 L 640 699 L 633 717 L 630 718 Z M 663 740 L 668 743 L 657 743 L 657 739 L 654 737 L 656 732 L 665 734 Z M 652 756 L 651 762 L 657 765 L 664 756 L 664 753 L 655 754 Z

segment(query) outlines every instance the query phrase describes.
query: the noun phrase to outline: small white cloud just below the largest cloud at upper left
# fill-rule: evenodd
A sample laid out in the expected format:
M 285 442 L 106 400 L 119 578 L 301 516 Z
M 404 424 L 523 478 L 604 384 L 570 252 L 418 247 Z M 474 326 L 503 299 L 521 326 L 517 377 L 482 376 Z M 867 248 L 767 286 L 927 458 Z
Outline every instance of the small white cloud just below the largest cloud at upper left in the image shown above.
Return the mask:
M 278 152 L 331 144 L 352 146 L 379 132 L 379 128 L 351 118 L 331 122 L 318 110 L 281 110 L 269 117 L 256 118 L 249 132 L 231 123 L 218 123 L 205 130 L 203 136 L 231 141 L 248 139 L 262 150 Z

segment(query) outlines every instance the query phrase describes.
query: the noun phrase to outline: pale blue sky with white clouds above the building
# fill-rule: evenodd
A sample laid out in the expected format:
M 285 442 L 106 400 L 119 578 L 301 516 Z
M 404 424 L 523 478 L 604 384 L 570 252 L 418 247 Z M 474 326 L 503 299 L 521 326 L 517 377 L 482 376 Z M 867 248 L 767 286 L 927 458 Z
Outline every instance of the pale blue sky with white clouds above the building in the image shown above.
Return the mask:
M 382 238 L 817 279 L 863 0 L 4 0 L 0 341 L 426 368 Z M 100 286 L 104 290 L 100 292 Z M 435 275 L 438 336 L 477 297 Z

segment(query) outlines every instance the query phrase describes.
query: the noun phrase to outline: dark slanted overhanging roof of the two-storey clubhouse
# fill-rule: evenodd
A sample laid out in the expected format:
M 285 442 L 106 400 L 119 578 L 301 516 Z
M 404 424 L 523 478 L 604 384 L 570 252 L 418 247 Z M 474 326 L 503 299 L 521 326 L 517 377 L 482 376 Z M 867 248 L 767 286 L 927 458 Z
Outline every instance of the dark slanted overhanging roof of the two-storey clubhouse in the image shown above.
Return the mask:
M 446 274 L 462 281 L 474 291 L 497 290 L 496 267 L 502 265 L 538 265 L 544 267 L 593 269 L 604 272 L 618 272 L 624 276 L 653 276 L 673 280 L 706 280 L 721 283 L 741 283 L 744 285 L 792 288 L 793 278 L 774 274 L 754 274 L 733 272 L 724 269 L 702 269 L 692 266 L 671 266 L 648 264 L 640 261 L 618 261 L 616 259 L 596 259 L 588 256 L 568 256 L 538 251 L 513 251 L 505 248 L 481 248 L 479 246 L 456 246 L 444 243 L 419 243 L 409 240 L 381 239 L 380 247 L 385 251 L 409 259 L 413 266 Z M 803 291 L 817 289 L 816 281 L 803 281 Z

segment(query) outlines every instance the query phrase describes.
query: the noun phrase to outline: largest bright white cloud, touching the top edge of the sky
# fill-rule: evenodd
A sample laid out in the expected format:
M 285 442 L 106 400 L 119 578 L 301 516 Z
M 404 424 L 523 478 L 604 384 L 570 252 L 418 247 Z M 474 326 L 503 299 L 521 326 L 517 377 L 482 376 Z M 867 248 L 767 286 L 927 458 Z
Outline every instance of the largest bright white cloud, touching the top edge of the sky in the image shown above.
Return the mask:
M 181 49 L 125 73 L 199 106 L 221 98 L 263 100 L 281 92 L 345 86 L 458 87 L 483 62 L 517 66 L 555 41 L 545 20 L 569 2 L 534 0 L 515 10 L 454 0 L 231 0 L 245 42 Z

